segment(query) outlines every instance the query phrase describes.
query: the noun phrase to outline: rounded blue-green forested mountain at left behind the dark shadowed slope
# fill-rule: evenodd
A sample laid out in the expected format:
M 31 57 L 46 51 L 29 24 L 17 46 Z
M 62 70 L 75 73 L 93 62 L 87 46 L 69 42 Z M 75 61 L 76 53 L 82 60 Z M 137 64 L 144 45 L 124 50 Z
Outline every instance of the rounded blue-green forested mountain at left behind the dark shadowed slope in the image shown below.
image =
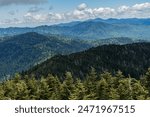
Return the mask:
M 0 42 L 0 78 L 26 70 L 56 54 L 69 54 L 90 47 L 81 41 L 34 32 L 13 36 Z

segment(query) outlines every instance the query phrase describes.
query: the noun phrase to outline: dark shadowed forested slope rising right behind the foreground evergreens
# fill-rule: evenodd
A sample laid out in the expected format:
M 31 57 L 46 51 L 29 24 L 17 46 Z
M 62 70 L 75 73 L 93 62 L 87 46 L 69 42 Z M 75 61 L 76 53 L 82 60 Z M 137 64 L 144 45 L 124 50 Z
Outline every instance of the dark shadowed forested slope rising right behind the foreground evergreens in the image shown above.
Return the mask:
M 115 73 L 121 70 L 125 75 L 139 77 L 150 67 L 150 43 L 127 45 L 104 45 L 70 55 L 55 56 L 24 74 L 36 77 L 49 73 L 64 77 L 65 72 L 83 78 L 94 67 L 97 72 Z

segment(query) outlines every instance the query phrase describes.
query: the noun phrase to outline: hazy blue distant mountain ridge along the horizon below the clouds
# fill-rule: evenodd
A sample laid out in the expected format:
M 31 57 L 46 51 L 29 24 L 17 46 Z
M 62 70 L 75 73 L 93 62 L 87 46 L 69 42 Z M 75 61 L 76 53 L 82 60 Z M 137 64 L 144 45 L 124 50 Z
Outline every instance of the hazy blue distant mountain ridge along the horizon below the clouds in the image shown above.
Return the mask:
M 1 28 L 0 36 L 12 36 L 27 32 L 59 34 L 84 40 L 128 37 L 149 40 L 150 19 L 91 19 L 35 28 Z

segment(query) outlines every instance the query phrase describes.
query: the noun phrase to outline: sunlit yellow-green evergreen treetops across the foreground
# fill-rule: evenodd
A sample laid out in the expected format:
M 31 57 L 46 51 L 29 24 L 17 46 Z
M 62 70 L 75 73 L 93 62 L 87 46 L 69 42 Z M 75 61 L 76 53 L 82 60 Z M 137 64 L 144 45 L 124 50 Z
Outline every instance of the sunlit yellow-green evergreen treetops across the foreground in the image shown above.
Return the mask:
M 139 80 L 121 71 L 99 74 L 94 68 L 84 80 L 66 72 L 65 80 L 49 74 L 35 79 L 16 74 L 0 83 L 0 99 L 9 100 L 147 100 L 150 99 L 150 69 Z

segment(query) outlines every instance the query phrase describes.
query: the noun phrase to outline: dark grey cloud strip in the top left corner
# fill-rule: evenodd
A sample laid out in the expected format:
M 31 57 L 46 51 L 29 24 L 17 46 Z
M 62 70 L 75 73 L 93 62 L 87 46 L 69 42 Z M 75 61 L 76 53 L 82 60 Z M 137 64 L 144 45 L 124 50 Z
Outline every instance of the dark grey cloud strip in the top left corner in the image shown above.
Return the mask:
M 11 4 L 41 4 L 48 0 L 0 0 L 0 6 L 7 6 Z

